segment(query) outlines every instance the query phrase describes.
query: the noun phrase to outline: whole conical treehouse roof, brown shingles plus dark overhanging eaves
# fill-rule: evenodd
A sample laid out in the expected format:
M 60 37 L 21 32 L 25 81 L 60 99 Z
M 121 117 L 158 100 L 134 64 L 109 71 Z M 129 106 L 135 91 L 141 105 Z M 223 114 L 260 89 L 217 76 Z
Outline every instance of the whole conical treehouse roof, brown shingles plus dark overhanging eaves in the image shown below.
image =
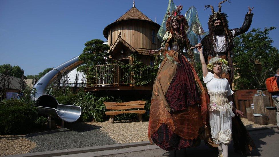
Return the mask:
M 119 21 L 124 21 L 124 20 L 132 20 L 132 19 L 136 19 L 136 20 L 146 20 L 154 25 L 156 25 L 156 27 L 160 28 L 160 25 L 158 23 L 153 22 L 150 18 L 148 18 L 146 15 L 144 15 L 141 11 L 139 11 L 135 6 L 133 6 L 129 11 L 127 11 L 124 15 L 122 15 L 121 17 L 119 17 L 119 19 L 117 19 L 116 21 L 114 21 L 113 23 L 107 25 L 107 27 L 105 27 L 105 29 L 103 30 L 103 35 L 105 36 L 105 38 L 108 38 L 108 31 L 110 29 L 110 27 L 115 24 L 118 23 Z

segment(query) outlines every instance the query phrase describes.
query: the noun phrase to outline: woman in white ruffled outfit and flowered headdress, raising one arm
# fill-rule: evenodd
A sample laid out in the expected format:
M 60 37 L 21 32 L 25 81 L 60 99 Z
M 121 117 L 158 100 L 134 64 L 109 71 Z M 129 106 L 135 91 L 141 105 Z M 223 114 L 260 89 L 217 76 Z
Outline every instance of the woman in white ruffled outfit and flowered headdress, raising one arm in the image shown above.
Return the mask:
M 206 65 L 202 45 L 200 43 L 198 45 L 203 81 L 210 96 L 208 114 L 212 139 L 216 144 L 219 144 L 219 156 L 227 157 L 228 144 L 232 141 L 232 117 L 235 114 L 243 116 L 244 113 L 234 107 L 231 96 L 234 92 L 231 90 L 228 80 L 221 78 L 222 73 L 229 72 L 228 61 L 216 56 L 210 59 L 208 65 Z

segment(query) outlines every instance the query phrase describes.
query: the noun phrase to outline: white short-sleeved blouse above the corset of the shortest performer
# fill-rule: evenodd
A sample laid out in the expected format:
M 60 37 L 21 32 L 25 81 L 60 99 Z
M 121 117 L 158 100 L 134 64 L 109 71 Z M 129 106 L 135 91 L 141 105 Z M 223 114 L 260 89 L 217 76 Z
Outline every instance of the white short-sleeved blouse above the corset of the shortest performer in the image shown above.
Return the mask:
M 214 74 L 208 72 L 206 77 L 203 77 L 203 81 L 206 84 L 208 92 L 224 92 L 228 91 L 228 96 L 234 94 L 230 88 L 230 84 L 226 78 L 218 79 L 214 77 Z

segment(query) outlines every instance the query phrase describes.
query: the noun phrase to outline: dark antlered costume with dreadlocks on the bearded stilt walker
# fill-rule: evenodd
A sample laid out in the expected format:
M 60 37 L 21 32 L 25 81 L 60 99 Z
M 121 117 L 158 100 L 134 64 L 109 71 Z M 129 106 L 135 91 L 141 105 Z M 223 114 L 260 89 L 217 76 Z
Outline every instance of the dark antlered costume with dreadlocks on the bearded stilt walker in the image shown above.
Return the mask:
M 202 39 L 203 55 L 206 63 L 216 55 L 220 58 L 226 59 L 228 61 L 228 66 L 230 67 L 229 73 L 222 74 L 222 78 L 227 78 L 230 86 L 232 85 L 234 77 L 234 67 L 232 63 L 232 49 L 234 48 L 233 38 L 248 31 L 251 23 L 253 14 L 246 14 L 244 23 L 242 27 L 235 29 L 228 29 L 228 21 L 226 19 L 226 14 L 221 13 L 221 4 L 225 1 L 219 3 L 219 11 L 215 12 L 211 5 L 206 7 L 211 7 L 212 15 L 210 15 L 208 21 L 209 34 Z M 222 34 L 216 35 L 214 32 L 214 22 L 220 20 L 221 25 L 224 27 L 224 32 Z M 250 154 L 252 148 L 255 147 L 253 140 L 249 136 L 245 126 L 243 125 L 239 116 L 232 118 L 232 136 L 234 140 L 234 149 L 242 154 Z

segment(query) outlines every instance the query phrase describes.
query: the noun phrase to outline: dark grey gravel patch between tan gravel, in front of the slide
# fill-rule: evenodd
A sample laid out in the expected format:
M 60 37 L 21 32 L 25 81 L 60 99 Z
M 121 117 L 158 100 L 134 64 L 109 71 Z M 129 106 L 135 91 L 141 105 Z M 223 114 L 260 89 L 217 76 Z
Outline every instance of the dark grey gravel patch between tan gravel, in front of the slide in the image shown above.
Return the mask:
M 100 126 L 80 122 L 65 123 L 65 128 L 27 134 L 26 138 L 32 142 L 36 142 L 36 147 L 30 152 L 102 146 L 118 143 L 111 139 L 110 136 L 100 128 Z

